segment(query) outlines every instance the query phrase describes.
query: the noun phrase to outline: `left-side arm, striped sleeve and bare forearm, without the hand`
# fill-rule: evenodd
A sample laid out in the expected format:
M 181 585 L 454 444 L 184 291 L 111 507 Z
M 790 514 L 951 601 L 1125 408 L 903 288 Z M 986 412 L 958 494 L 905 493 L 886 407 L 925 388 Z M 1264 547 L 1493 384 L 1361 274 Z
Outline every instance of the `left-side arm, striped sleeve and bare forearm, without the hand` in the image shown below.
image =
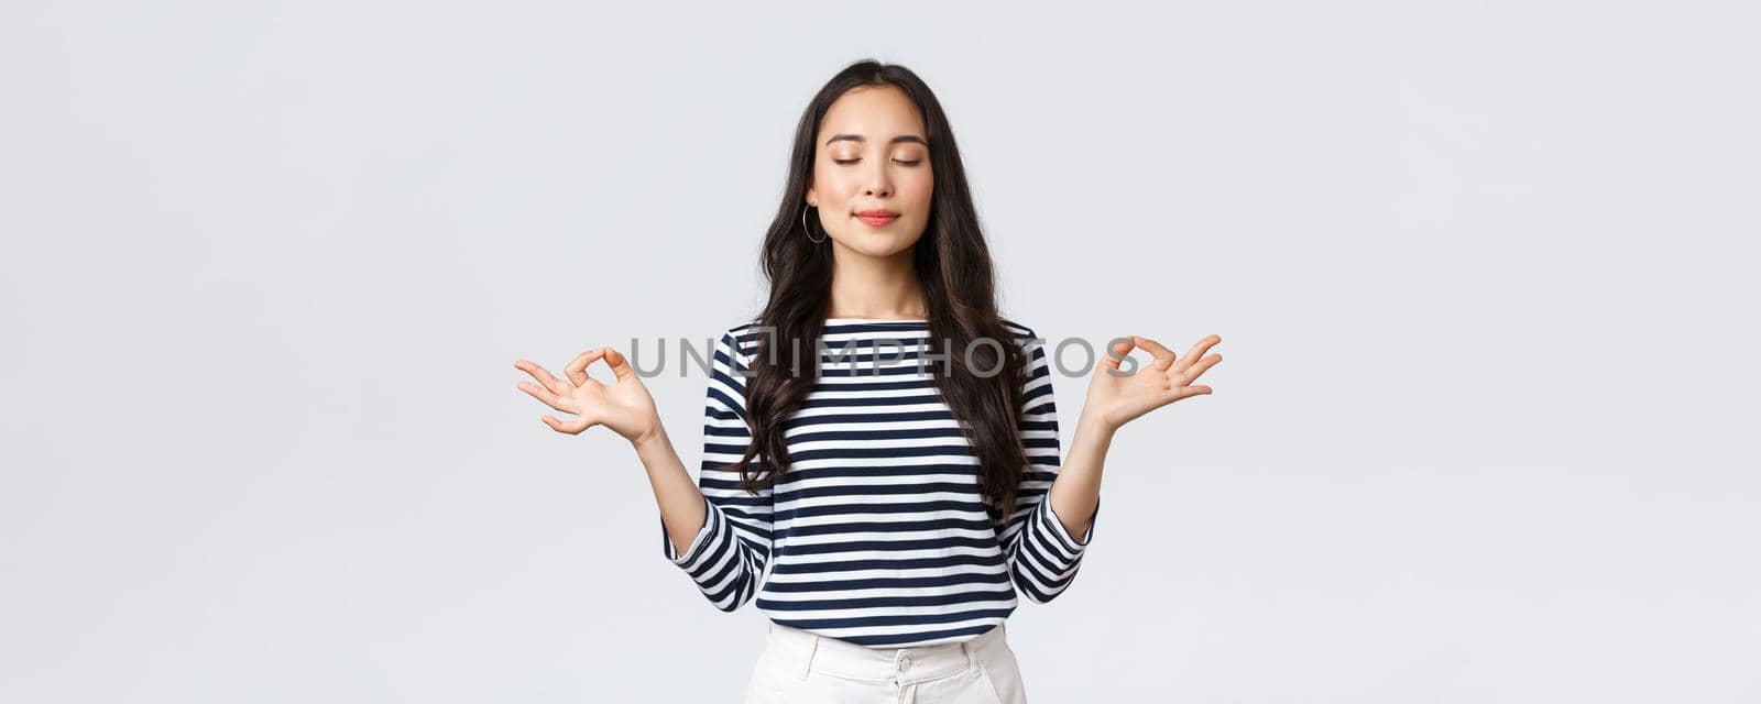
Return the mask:
M 690 486 L 664 431 L 659 440 L 637 445 L 660 505 L 666 558 L 683 568 L 704 598 L 722 611 L 734 611 L 757 595 L 771 549 L 771 489 L 754 496 L 738 486 L 740 472 L 726 468 L 740 461 L 752 440 L 745 377 L 740 375 L 745 368 L 733 331 L 722 334 L 710 364 L 703 466 L 696 486 Z

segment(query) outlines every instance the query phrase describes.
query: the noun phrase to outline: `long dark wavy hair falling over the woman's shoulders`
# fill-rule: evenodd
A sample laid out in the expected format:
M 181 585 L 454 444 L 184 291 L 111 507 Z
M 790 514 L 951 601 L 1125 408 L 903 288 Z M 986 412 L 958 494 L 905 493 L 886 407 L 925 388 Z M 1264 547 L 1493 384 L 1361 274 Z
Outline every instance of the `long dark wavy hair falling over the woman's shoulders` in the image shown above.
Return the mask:
M 740 470 L 740 486 L 747 491 L 773 486 L 777 473 L 789 466 L 785 421 L 805 405 L 819 378 L 819 338 L 831 299 L 831 245 L 808 239 L 801 213 L 814 174 L 819 125 L 833 100 L 856 86 L 896 86 L 923 116 L 935 185 L 930 218 L 912 255 L 917 283 L 928 299 L 926 345 L 951 359 L 946 373 L 932 377 L 954 419 L 967 424 L 967 440 L 979 456 L 979 486 L 990 503 L 986 510 L 995 524 L 1002 524 L 1014 514 L 1016 488 L 1027 465 L 1018 426 L 1027 361 L 1014 333 L 997 313 L 990 248 L 979 231 L 954 132 L 930 86 L 896 63 L 851 63 L 814 95 L 794 128 L 789 183 L 764 236 L 764 276 L 771 290 L 757 319 L 766 333 L 757 336 L 752 377 L 747 378 L 752 444 L 731 466 Z M 998 345 L 970 345 L 986 338 Z M 944 340 L 951 343 L 946 348 Z M 974 368 L 986 375 L 979 377 Z M 757 456 L 764 458 L 757 465 L 770 470 L 763 477 L 752 466 Z

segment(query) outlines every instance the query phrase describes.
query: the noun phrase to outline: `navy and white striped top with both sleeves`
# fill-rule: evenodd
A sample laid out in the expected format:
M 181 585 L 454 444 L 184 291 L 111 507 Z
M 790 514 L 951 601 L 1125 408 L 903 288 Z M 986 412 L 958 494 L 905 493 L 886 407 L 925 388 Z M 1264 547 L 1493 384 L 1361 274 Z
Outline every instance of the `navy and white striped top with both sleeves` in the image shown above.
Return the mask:
M 775 623 L 868 648 L 977 637 L 1009 618 L 1016 588 L 1032 602 L 1055 598 L 1076 577 L 1094 523 L 1076 539 L 1044 500 L 1060 458 L 1051 370 L 1044 340 L 1004 324 L 1027 352 L 1028 466 L 1002 532 L 984 512 L 979 459 L 933 385 L 940 368 L 917 368 L 921 319 L 828 319 L 821 378 L 784 424 L 792 466 L 757 496 L 740 489 L 726 466 L 752 435 L 747 377 L 736 370 L 750 368 L 770 334 L 747 322 L 715 345 L 697 479 L 708 516 L 683 554 L 662 519 L 666 558 L 717 609 L 757 595 Z M 845 357 L 851 341 L 856 354 Z

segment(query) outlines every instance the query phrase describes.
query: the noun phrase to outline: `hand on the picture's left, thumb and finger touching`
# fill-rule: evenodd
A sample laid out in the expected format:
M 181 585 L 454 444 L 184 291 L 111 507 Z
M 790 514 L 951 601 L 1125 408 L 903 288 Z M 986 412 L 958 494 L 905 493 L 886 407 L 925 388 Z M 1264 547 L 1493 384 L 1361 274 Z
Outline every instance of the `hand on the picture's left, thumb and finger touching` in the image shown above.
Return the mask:
M 616 375 L 611 385 L 586 375 L 586 366 L 601 357 L 606 359 L 606 366 Z M 583 429 L 602 424 L 636 444 L 652 436 L 660 428 L 660 414 L 655 410 L 653 396 L 648 396 L 648 387 L 643 385 L 641 377 L 623 359 L 623 354 L 611 347 L 597 347 L 576 356 L 564 368 L 567 378 L 551 377 L 542 366 L 525 359 L 516 361 L 514 368 L 532 375 L 539 382 L 519 382 L 519 391 L 532 394 L 532 398 L 544 401 L 551 408 L 576 415 L 574 421 L 564 422 L 546 414 L 544 424 L 558 433 L 579 435 Z

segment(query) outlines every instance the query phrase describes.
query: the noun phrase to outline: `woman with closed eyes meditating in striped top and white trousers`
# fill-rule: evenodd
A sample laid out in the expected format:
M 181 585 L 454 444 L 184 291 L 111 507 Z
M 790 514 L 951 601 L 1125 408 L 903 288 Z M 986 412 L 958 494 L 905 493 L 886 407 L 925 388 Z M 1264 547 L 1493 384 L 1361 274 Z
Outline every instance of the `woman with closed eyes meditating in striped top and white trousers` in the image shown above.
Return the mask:
M 722 611 L 757 598 L 748 702 L 1021 702 L 1016 595 L 1071 586 L 1113 433 L 1208 394 L 1192 382 L 1220 338 L 1178 359 L 1115 340 L 1060 463 L 1044 340 L 997 312 L 954 136 L 916 74 L 838 72 L 796 127 L 784 192 L 770 301 L 715 345 L 697 482 L 618 350 L 564 378 L 518 361 L 542 384 L 519 389 L 576 414 L 542 417 L 560 433 L 630 440 L 667 560 Z M 1134 347 L 1155 359 L 1124 373 Z M 601 359 L 615 382 L 586 375 Z

